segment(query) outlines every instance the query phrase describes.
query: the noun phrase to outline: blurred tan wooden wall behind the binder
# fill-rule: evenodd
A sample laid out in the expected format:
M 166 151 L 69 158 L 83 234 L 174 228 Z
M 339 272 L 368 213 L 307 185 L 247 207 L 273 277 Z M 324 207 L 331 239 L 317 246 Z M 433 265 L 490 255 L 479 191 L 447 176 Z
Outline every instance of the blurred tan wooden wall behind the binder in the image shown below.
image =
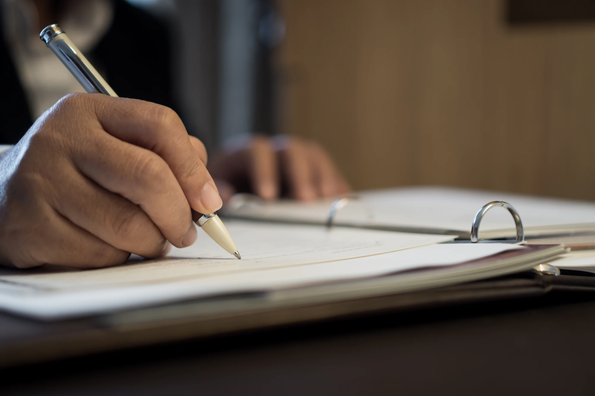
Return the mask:
M 356 189 L 595 199 L 595 25 L 511 27 L 502 0 L 287 0 L 281 126 Z

